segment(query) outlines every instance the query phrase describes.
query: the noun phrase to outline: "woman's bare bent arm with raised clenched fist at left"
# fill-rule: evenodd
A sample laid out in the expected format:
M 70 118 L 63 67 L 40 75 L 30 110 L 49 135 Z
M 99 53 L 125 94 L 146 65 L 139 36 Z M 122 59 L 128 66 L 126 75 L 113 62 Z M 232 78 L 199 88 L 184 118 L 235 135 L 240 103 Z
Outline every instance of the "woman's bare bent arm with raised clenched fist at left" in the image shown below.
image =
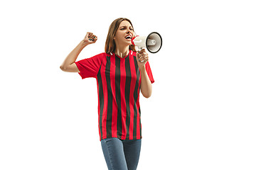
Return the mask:
M 92 33 L 87 33 L 85 35 L 85 38 L 65 58 L 63 64 L 60 65 L 60 69 L 63 70 L 63 72 L 79 72 L 79 69 L 75 64 L 75 60 L 77 60 L 78 55 L 84 47 L 92 43 L 95 43 L 96 41 L 97 36 L 93 35 Z

